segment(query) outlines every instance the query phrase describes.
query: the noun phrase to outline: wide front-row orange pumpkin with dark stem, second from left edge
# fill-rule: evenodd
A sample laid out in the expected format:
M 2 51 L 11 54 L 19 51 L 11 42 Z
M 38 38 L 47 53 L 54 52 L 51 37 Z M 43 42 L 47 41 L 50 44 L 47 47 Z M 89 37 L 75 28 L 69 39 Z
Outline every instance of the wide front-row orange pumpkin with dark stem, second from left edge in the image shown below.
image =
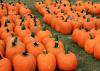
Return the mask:
M 35 71 L 36 59 L 33 55 L 22 52 L 13 59 L 14 71 Z

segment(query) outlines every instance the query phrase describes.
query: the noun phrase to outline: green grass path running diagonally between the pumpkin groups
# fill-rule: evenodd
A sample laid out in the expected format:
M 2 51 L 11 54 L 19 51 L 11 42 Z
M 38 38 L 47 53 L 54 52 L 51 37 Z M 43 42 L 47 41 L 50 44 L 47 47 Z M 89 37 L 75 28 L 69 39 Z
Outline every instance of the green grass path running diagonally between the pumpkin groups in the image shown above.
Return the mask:
M 39 13 L 37 13 L 35 8 L 33 7 L 35 0 L 22 0 L 22 1 L 27 3 L 29 8 L 32 10 L 32 12 L 41 20 L 41 23 L 44 24 L 42 20 L 42 16 Z M 100 0 L 95 0 L 95 1 L 100 2 Z M 57 33 L 48 25 L 47 25 L 47 28 L 52 33 Z M 70 49 L 77 55 L 78 68 L 76 69 L 76 71 L 100 71 L 100 61 L 97 61 L 93 56 L 88 55 L 87 53 L 84 52 L 83 49 L 79 48 L 76 44 L 74 44 L 71 40 L 70 35 L 61 35 L 60 33 L 57 33 L 57 34 L 59 35 L 60 40 L 64 42 L 65 48 Z M 59 70 L 56 70 L 56 71 L 59 71 Z

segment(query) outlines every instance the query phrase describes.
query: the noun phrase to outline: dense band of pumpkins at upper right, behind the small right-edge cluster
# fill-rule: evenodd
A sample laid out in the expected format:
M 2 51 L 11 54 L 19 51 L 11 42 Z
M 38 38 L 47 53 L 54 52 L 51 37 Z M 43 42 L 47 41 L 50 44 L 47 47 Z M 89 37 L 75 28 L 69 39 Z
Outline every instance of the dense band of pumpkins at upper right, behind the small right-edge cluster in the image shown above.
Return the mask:
M 62 1 L 61 3 L 59 3 L 59 1 L 56 3 L 53 2 L 49 5 L 41 1 L 35 3 L 35 8 L 40 14 L 43 15 L 44 22 L 56 31 L 62 34 L 71 34 L 74 29 L 79 28 L 80 26 L 88 29 L 92 29 L 95 26 L 100 28 L 99 16 L 95 16 L 94 13 L 89 14 L 89 12 L 84 9 L 78 11 L 73 6 L 67 4 L 69 3 L 68 1 Z M 76 4 L 79 5 L 79 3 L 81 3 L 81 1 Z M 93 4 L 93 6 L 94 5 L 95 4 Z M 64 10 L 63 8 L 67 10 Z

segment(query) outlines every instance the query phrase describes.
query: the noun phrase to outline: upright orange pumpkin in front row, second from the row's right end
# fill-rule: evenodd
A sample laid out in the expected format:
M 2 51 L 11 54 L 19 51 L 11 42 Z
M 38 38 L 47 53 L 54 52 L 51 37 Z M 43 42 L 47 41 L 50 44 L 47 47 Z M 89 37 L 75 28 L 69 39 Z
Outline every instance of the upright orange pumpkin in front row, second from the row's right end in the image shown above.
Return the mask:
M 37 65 L 39 71 L 55 71 L 56 58 L 53 54 L 44 51 L 38 55 Z

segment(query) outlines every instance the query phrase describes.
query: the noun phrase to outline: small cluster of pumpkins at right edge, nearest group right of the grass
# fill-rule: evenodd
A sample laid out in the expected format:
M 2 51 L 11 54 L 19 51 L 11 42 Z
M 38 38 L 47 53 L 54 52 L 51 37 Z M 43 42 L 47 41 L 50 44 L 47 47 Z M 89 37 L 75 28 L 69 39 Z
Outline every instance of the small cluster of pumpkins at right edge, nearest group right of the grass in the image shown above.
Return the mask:
M 77 28 L 72 33 L 72 41 L 83 48 L 85 52 L 100 60 L 100 29 Z

